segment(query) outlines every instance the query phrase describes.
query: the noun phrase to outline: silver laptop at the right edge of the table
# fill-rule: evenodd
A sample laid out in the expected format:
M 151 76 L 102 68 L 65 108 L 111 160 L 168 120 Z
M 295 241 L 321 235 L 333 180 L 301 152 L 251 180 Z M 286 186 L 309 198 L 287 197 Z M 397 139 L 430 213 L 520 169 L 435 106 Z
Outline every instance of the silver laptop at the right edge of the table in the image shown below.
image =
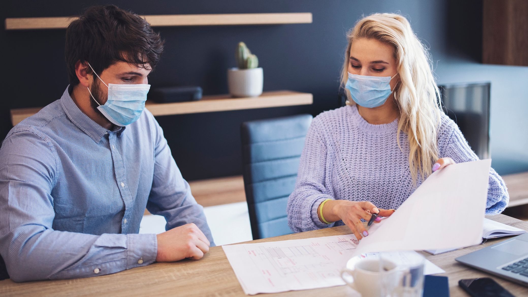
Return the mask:
M 455 260 L 528 286 L 528 233 L 476 250 Z

